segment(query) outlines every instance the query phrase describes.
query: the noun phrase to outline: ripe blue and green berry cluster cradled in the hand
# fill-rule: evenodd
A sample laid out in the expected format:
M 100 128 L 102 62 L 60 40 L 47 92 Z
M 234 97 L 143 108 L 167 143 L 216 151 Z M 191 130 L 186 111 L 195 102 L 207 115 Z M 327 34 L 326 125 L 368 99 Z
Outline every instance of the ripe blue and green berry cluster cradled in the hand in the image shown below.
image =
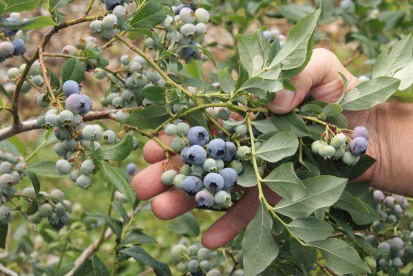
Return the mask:
M 186 164 L 179 173 L 173 169 L 165 171 L 162 183 L 173 184 L 195 197 L 202 208 L 231 206 L 230 192 L 243 169 L 239 160 L 251 158 L 251 149 L 246 146 L 237 149 L 233 142 L 221 138 L 210 140 L 207 129 L 189 128 L 183 122 L 167 125 L 165 132 L 175 135 L 171 147 L 180 152 Z

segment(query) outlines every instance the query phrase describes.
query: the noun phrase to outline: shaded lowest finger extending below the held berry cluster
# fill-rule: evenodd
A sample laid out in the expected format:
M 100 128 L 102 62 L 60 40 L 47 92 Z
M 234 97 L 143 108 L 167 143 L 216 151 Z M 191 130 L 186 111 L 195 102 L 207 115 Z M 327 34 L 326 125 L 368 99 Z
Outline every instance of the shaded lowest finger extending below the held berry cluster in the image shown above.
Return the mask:
M 264 191 L 266 191 L 266 198 L 271 205 L 275 205 L 281 199 L 268 188 L 265 188 L 265 186 Z M 202 235 L 202 244 L 210 249 L 224 246 L 246 228 L 257 212 L 257 208 L 258 191 L 257 187 L 254 187 L 248 189 L 248 193 L 237 204 L 209 227 Z

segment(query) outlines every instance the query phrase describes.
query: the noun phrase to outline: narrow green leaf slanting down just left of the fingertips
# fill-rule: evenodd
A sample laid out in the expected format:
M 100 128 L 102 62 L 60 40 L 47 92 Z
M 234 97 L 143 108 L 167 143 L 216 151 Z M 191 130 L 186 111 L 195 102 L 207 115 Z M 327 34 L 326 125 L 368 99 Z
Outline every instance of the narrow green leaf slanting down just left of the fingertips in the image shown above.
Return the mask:
M 125 178 L 124 174 L 120 169 L 110 166 L 107 162 L 100 162 L 105 176 L 112 184 L 112 186 L 120 191 L 131 203 L 131 206 L 134 206 L 136 202 L 136 193 L 132 189 L 131 185 Z

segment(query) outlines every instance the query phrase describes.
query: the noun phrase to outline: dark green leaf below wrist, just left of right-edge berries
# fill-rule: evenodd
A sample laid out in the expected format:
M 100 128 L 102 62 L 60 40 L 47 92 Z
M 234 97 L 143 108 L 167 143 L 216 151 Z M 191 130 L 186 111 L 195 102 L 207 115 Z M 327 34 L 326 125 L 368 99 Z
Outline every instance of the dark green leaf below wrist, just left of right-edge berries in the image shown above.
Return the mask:
M 377 212 L 359 198 L 354 198 L 350 193 L 344 191 L 341 198 L 333 205 L 350 214 L 352 221 L 359 225 L 371 224 L 380 220 Z

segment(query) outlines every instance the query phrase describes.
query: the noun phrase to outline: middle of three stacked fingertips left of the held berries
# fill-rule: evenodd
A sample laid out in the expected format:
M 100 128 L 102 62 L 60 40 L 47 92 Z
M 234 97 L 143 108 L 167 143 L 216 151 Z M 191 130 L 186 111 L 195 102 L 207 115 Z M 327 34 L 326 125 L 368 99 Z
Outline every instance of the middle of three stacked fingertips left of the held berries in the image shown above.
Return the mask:
M 171 186 L 162 184 L 160 176 L 162 176 L 162 173 L 165 171 L 165 165 L 167 165 L 169 169 L 178 171 L 173 160 L 179 165 L 183 164 L 180 156 L 173 156 L 167 163 L 165 160 L 158 161 L 136 173 L 136 176 L 134 176 L 131 181 L 131 185 L 134 187 L 139 200 L 148 200 L 149 198 L 153 198 L 153 196 L 162 193 L 162 191 L 171 188 Z

